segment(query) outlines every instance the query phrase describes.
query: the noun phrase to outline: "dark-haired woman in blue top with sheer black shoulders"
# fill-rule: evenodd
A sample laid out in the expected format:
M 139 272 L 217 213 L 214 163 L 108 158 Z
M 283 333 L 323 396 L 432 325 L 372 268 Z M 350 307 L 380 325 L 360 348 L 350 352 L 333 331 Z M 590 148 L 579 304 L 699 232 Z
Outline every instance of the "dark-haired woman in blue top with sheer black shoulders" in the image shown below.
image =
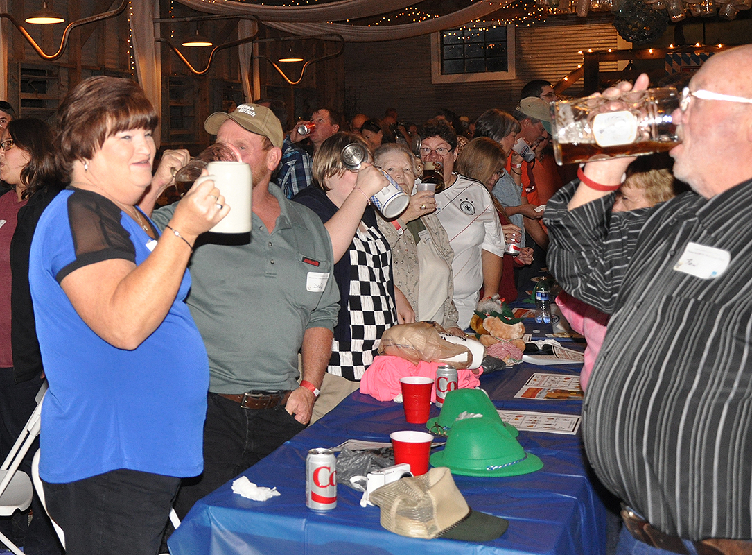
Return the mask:
M 70 186 L 29 263 L 44 371 L 40 474 L 66 553 L 157 553 L 180 477 L 202 471 L 208 359 L 183 302 L 196 236 L 229 211 L 212 181 L 159 232 L 135 205 L 153 181 L 157 116 L 134 81 L 99 76 L 58 111 Z M 168 151 L 155 185 L 186 162 Z

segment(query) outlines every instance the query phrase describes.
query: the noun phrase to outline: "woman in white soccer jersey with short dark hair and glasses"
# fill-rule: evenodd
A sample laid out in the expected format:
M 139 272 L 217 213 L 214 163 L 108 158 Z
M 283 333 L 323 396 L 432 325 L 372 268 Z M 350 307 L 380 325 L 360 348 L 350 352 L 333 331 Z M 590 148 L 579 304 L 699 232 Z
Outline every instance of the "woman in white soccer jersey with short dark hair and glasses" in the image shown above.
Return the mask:
M 423 163 L 438 162 L 444 168 L 444 191 L 436 194 L 436 215 L 447 230 L 454 251 L 454 304 L 458 324 L 470 325 L 481 287 L 495 294 L 502 279 L 504 235 L 499 216 L 484 184 L 453 172 L 457 137 L 441 120 L 426 124 L 420 132 Z M 426 214 L 432 209 L 426 208 Z

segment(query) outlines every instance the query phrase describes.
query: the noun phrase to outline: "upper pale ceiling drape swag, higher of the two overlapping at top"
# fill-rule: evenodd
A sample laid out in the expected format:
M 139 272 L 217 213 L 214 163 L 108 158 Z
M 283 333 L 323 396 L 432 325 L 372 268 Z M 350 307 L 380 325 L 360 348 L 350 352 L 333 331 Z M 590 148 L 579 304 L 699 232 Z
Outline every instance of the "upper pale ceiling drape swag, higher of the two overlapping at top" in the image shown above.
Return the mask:
M 312 6 L 269 6 L 234 0 L 177 0 L 196 11 L 217 15 L 252 14 L 261 20 L 287 22 L 326 22 L 370 17 L 402 10 L 415 0 L 338 0 Z

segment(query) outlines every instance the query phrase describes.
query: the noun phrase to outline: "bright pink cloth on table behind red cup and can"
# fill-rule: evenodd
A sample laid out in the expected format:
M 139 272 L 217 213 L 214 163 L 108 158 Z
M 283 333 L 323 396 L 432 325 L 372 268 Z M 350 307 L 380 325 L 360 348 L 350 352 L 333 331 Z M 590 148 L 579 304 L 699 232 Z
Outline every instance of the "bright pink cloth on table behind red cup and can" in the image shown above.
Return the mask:
M 374 358 L 371 366 L 366 369 L 360 379 L 360 392 L 378 399 L 379 401 L 392 401 L 397 395 L 402 395 L 399 379 L 407 376 L 424 376 L 436 380 L 436 368 L 438 362 L 420 361 L 416 366 L 411 361 L 399 356 L 378 355 Z M 478 377 L 483 374 L 473 374 L 471 370 L 457 371 L 457 387 L 459 389 L 472 389 L 481 385 Z M 436 401 L 436 387 L 431 390 L 431 402 Z

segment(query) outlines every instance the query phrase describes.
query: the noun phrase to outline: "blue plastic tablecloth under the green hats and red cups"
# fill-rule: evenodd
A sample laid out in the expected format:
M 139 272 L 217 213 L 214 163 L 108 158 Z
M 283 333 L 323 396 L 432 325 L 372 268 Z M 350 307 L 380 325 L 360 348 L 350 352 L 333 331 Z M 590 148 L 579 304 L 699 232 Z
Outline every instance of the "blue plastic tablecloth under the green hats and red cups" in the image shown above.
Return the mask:
M 578 366 L 521 367 L 482 377 L 499 408 L 579 413 L 580 401 L 514 399 L 535 372 L 578 374 Z M 438 409 L 432 409 L 438 416 Z M 174 555 L 351 555 L 352 553 L 605 553 L 605 509 L 590 481 L 579 435 L 521 431 L 519 441 L 544 462 L 542 470 L 517 477 L 454 476 L 473 509 L 509 521 L 501 538 L 486 543 L 437 538 L 405 538 L 379 523 L 379 508 L 361 508 L 360 492 L 338 486 L 338 505 L 328 513 L 305 506 L 305 456 L 314 447 L 334 447 L 347 438 L 389 441 L 399 429 L 425 429 L 405 422 L 402 405 L 376 401 L 356 392 L 332 413 L 253 465 L 243 474 L 259 486 L 281 493 L 253 502 L 232 493 L 232 483 L 196 503 L 171 536 Z

